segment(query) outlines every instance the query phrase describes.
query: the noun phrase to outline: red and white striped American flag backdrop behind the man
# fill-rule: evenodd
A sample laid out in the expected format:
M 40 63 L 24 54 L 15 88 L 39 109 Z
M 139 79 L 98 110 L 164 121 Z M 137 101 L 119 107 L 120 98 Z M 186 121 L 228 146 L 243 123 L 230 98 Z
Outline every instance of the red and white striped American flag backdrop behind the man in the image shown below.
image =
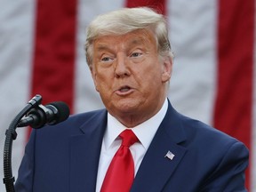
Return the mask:
M 72 113 L 103 107 L 84 57 L 85 28 L 100 13 L 147 5 L 168 19 L 175 54 L 172 105 L 244 142 L 250 149 L 246 186 L 256 192 L 255 0 L 0 0 L 0 5 L 1 154 L 5 130 L 35 94 L 43 96 L 43 104 L 67 102 Z M 17 132 L 15 178 L 29 130 Z

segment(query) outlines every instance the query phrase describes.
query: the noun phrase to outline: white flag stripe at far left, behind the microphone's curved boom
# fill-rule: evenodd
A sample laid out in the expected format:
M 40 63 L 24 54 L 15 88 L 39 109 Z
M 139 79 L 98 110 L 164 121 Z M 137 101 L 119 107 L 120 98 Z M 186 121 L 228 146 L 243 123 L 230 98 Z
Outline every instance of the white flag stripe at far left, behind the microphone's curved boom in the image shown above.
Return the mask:
M 30 64 L 33 53 L 33 0 L 1 2 L 4 9 L 0 12 L 0 172 L 3 171 L 3 150 L 5 130 L 8 128 L 14 116 L 28 103 L 30 85 Z M 12 146 L 12 173 L 17 178 L 17 170 L 23 156 L 26 140 L 26 129 L 17 129 L 17 140 Z M 4 174 L 1 174 L 4 177 Z M 0 185 L 0 191 L 5 191 L 4 184 Z

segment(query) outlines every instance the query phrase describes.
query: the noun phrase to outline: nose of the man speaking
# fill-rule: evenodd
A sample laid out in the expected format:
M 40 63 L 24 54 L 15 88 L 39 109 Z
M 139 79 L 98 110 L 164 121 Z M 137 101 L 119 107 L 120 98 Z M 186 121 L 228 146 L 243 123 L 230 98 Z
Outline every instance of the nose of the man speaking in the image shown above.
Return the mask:
M 116 68 L 115 76 L 117 78 L 124 78 L 125 76 L 130 76 L 131 72 L 128 66 L 128 60 L 124 54 L 120 54 L 116 57 Z

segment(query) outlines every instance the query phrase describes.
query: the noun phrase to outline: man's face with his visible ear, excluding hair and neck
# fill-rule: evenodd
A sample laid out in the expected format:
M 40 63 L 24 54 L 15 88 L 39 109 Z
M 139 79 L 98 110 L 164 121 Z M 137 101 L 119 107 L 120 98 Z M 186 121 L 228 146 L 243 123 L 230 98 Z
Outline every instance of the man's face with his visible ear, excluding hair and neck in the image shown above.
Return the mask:
M 172 61 L 160 59 L 156 37 L 139 29 L 93 43 L 92 78 L 112 116 L 151 117 L 162 107 Z

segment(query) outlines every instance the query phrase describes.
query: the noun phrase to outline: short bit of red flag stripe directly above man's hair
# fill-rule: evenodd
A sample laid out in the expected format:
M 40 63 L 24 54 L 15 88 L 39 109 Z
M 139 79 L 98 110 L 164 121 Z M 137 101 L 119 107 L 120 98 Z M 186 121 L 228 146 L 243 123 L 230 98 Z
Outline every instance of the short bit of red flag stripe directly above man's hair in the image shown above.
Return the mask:
M 155 9 L 157 12 L 162 14 L 166 13 L 165 0 L 126 0 L 126 7 L 139 7 L 139 6 L 148 6 Z

